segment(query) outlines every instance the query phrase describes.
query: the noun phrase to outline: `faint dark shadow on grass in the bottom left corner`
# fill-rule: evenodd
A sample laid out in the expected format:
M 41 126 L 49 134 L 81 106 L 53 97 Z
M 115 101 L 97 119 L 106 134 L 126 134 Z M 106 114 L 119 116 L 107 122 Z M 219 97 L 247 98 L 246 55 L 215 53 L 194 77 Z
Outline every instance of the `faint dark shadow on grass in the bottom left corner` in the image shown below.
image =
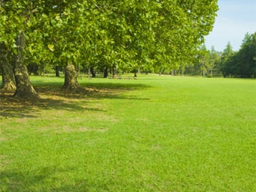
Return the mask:
M 43 167 L 41 170 L 29 171 L 26 174 L 21 173 L 19 170 L 2 171 L 0 173 L 0 191 L 1 186 L 6 187 L 4 191 L 34 191 L 35 186 L 40 186 L 36 191 L 87 191 L 89 188 L 98 189 L 100 191 L 109 191 L 106 183 L 99 183 L 93 180 L 75 180 L 71 185 L 65 182 L 61 186 L 53 186 L 51 189 L 43 186 L 44 180 L 56 174 L 68 174 L 74 171 L 75 168 L 71 166 L 66 168 L 58 168 L 57 166 Z M 6 180 L 8 178 L 8 180 Z

